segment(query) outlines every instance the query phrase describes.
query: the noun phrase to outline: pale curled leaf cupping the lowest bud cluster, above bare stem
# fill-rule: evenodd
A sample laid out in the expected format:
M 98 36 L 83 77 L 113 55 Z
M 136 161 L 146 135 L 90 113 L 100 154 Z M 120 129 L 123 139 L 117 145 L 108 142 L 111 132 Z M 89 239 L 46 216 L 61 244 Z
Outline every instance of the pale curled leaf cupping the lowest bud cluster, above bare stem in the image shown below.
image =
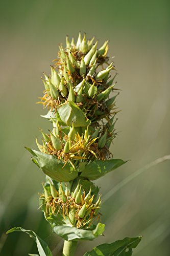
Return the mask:
M 93 230 L 79 229 L 69 226 L 56 226 L 53 231 L 61 238 L 67 241 L 93 240 L 102 234 L 105 230 L 105 224 L 98 223 Z

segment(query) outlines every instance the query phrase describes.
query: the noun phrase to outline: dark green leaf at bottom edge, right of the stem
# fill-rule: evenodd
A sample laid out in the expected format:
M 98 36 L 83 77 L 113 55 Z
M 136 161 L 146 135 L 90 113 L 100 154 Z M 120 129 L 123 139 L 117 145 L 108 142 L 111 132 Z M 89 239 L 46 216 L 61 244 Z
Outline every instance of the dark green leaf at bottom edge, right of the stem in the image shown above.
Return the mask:
M 141 238 L 125 238 L 112 244 L 101 244 L 86 252 L 84 256 L 131 256 L 132 249 L 136 248 Z

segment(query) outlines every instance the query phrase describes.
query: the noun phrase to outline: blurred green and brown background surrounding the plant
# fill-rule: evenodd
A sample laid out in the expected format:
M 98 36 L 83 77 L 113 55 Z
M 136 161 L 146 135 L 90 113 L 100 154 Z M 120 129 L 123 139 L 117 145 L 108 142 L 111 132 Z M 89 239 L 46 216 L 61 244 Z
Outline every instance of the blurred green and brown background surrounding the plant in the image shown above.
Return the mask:
M 1 255 L 37 252 L 25 234 L 6 236 L 13 226 L 36 231 L 54 254 L 62 248 L 63 241 L 37 210 L 44 175 L 23 146 L 36 148 L 38 127 L 48 128 L 40 117 L 46 110 L 35 104 L 43 90 L 40 77 L 42 71 L 50 72 L 67 34 L 77 38 L 80 30 L 86 31 L 101 45 L 109 38 L 109 54 L 116 56 L 122 111 L 112 153 L 131 161 L 96 181 L 101 193 L 170 154 L 169 7 L 168 0 L 1 1 Z M 79 243 L 77 256 L 100 243 L 139 235 L 143 239 L 134 255 L 169 256 L 169 165 L 166 161 L 147 170 L 103 202 L 105 236 Z

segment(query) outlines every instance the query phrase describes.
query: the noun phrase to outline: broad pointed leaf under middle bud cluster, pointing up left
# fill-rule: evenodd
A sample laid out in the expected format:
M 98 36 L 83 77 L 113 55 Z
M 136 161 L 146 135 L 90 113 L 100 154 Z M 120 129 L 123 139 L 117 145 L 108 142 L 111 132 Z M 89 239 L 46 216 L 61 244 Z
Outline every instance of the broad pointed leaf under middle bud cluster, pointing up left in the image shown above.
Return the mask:
M 36 163 L 42 172 L 59 182 L 71 181 L 77 178 L 78 170 L 74 170 L 71 165 L 64 164 L 57 159 L 56 156 L 47 155 L 31 148 L 26 147 L 33 155 L 33 162 Z M 63 167 L 64 166 L 64 167 Z

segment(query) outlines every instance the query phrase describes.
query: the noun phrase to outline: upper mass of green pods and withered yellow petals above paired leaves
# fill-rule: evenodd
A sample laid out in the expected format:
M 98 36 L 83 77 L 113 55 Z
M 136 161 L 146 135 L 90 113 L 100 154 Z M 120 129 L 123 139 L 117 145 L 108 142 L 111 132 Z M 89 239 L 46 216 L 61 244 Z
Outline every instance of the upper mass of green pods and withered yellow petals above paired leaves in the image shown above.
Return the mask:
M 115 83 L 110 79 L 113 62 L 108 63 L 108 40 L 99 42 L 86 39 L 79 33 L 77 42 L 66 37 L 66 47 L 59 46 L 58 59 L 51 66 L 51 75 L 44 73 L 44 96 L 57 129 L 50 134 L 41 130 L 41 152 L 57 156 L 63 163 L 77 168 L 79 161 L 105 160 L 111 157 L 109 146 L 116 137 L 110 121 L 115 115 Z M 107 125 L 106 125 L 107 124 Z M 85 138 L 88 129 L 89 137 Z

